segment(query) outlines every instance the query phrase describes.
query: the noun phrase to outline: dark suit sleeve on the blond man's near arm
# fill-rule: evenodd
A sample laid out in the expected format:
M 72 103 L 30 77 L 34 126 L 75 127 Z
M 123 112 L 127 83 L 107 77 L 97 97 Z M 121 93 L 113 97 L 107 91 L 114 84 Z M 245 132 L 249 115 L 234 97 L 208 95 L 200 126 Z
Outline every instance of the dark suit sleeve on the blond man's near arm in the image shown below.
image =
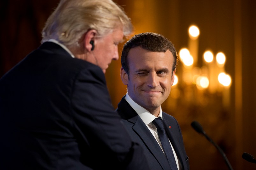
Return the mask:
M 92 167 L 148 169 L 142 148 L 132 143 L 111 105 L 105 78 L 98 67 L 77 76 L 72 92 L 72 116 L 81 155 L 91 155 Z M 86 160 L 82 160 L 86 161 Z

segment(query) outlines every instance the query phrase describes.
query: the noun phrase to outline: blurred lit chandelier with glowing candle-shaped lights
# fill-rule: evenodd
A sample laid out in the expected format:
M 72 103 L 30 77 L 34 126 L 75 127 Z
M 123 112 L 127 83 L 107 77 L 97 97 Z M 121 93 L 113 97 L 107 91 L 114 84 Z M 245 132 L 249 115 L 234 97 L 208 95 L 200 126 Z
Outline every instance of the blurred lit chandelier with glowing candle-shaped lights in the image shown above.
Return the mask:
M 206 49 L 202 58 L 199 58 L 199 35 L 200 30 L 196 25 L 191 25 L 188 28 L 188 47 L 179 51 L 182 73 L 174 75 L 174 89 L 181 83 L 183 87 L 193 86 L 201 93 L 220 93 L 223 104 L 228 106 L 230 104 L 231 76 L 224 69 L 226 56 L 221 51 L 215 55 L 214 52 Z M 197 65 L 198 59 L 202 60 L 201 67 Z M 175 98 L 175 95 L 173 97 Z

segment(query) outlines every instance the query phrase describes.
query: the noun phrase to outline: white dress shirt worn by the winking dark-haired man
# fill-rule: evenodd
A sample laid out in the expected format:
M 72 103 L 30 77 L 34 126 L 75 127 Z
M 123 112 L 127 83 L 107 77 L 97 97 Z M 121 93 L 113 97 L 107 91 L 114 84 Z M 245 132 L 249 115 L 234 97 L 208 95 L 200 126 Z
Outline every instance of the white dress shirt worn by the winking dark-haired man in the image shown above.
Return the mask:
M 151 114 L 149 111 L 147 111 L 145 108 L 143 108 L 143 107 L 139 106 L 137 103 L 135 103 L 132 100 L 132 98 L 128 95 L 128 93 L 126 93 L 125 100 L 132 106 L 132 108 L 135 110 L 135 112 L 139 115 L 139 117 L 145 123 L 145 125 L 147 126 L 149 131 L 153 134 L 153 136 L 156 139 L 157 143 L 159 144 L 159 146 L 161 147 L 162 151 L 164 152 L 162 144 L 161 144 L 159 136 L 158 136 L 158 133 L 157 133 L 157 128 L 152 123 L 152 121 L 155 120 L 156 117 L 153 114 Z M 160 113 L 159 113 L 158 117 L 161 117 L 162 120 L 163 120 L 161 106 L 160 106 Z M 169 142 L 170 142 L 170 140 L 169 140 Z M 171 144 L 171 147 L 172 147 L 172 150 L 173 150 L 173 154 L 174 154 L 174 158 L 175 158 L 178 170 L 181 170 L 182 166 L 180 164 L 180 160 L 178 159 L 178 157 L 177 157 L 177 155 L 176 155 L 176 153 L 174 151 L 174 148 L 173 148 L 171 142 L 170 142 L 170 144 Z

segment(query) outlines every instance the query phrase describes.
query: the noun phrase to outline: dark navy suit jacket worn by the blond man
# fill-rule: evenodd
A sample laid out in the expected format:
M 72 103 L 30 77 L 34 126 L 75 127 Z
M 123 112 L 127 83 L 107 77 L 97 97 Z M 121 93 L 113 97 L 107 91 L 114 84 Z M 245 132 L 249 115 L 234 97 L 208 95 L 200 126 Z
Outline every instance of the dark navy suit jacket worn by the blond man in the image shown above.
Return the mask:
M 103 71 L 45 42 L 0 79 L 0 169 L 148 169 Z

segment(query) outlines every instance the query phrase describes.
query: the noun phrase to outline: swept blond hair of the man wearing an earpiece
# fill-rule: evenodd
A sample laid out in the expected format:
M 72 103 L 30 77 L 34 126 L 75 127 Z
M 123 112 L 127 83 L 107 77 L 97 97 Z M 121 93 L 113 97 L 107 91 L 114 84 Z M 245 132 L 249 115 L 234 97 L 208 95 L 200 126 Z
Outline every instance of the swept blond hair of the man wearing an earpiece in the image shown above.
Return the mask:
M 90 29 L 105 36 L 121 26 L 124 36 L 132 33 L 130 18 L 112 0 L 61 0 L 46 22 L 42 42 L 55 39 L 74 46 Z

